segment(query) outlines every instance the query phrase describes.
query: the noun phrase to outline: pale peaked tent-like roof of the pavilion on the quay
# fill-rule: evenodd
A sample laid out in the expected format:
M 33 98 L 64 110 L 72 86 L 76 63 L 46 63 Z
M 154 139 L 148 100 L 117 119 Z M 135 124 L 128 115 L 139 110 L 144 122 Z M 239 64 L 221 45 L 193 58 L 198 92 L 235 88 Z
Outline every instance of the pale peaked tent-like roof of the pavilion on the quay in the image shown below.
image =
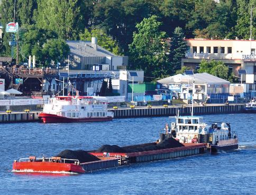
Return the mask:
M 195 84 L 230 84 L 229 81 L 221 79 L 217 76 L 208 74 L 208 73 L 196 73 L 195 76 Z M 161 84 L 187 84 L 189 79 L 189 83 L 193 83 L 193 76 L 192 75 L 184 75 L 184 74 L 177 74 L 174 76 L 169 76 L 167 78 L 158 80 L 158 83 Z

